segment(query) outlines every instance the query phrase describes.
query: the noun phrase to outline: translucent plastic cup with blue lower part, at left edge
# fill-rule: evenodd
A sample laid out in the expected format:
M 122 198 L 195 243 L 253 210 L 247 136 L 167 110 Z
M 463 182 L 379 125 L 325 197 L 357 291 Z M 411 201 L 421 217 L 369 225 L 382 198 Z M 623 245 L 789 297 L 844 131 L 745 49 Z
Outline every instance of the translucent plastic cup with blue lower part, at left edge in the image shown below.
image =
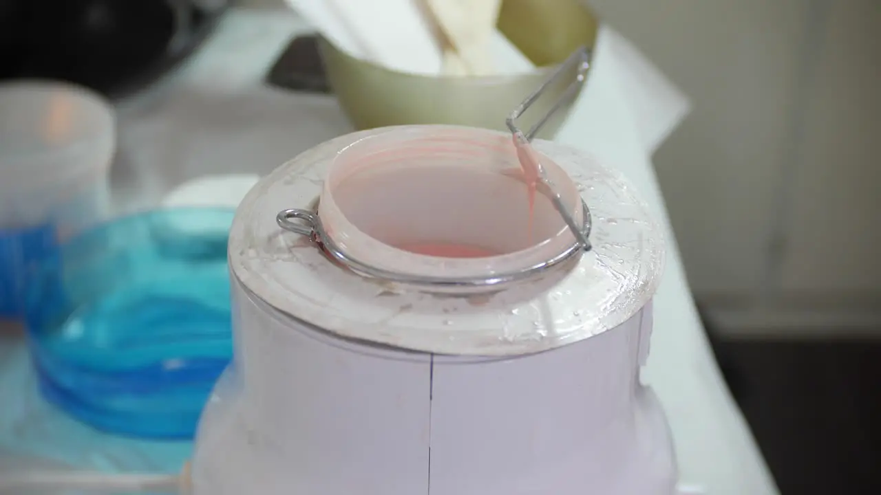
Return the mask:
M 0 319 L 20 316 L 27 267 L 107 217 L 113 107 L 54 81 L 0 84 Z

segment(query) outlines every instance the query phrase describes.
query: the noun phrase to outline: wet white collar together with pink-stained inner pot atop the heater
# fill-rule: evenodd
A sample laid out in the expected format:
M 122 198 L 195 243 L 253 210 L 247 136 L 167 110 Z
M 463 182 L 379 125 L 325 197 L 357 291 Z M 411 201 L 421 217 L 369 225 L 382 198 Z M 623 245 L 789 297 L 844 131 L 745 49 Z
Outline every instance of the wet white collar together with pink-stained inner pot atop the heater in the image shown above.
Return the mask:
M 339 137 L 263 178 L 233 222 L 233 272 L 301 323 L 417 351 L 521 354 L 596 335 L 650 299 L 661 231 L 619 174 L 581 151 L 535 147 L 573 218 L 584 219 L 581 201 L 593 217 L 593 250 L 535 277 L 492 292 L 426 292 L 349 270 L 276 223 L 279 211 L 317 201 L 315 217 L 344 254 L 424 277 L 522 270 L 577 244 L 547 191 L 530 207 L 510 135 L 449 126 Z

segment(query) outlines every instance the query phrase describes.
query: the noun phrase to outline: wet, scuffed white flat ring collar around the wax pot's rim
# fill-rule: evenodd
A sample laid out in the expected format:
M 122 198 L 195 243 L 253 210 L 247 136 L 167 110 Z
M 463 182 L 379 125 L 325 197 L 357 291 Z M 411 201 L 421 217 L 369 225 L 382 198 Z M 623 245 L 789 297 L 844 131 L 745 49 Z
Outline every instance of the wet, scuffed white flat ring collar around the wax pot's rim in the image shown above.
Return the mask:
M 456 355 L 517 355 L 571 344 L 618 326 L 651 298 L 663 270 L 664 247 L 648 205 L 620 174 L 589 154 L 547 141 L 534 146 L 566 171 L 589 205 L 593 249 L 571 268 L 528 284 L 470 297 L 399 292 L 341 269 L 312 242 L 276 223 L 278 211 L 312 206 L 330 162 L 344 148 L 381 133 L 439 130 L 469 129 L 406 126 L 357 132 L 316 146 L 264 177 L 233 222 L 229 248 L 235 276 L 252 297 L 316 328 Z

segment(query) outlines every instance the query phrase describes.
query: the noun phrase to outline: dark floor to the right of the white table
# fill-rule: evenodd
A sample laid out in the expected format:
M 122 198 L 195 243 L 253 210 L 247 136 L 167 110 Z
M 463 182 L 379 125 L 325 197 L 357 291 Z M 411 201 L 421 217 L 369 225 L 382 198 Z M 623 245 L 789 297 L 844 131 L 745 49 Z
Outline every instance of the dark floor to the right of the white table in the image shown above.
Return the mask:
M 718 345 L 750 383 L 737 402 L 783 495 L 881 493 L 877 337 L 793 331 L 776 339 L 725 336 Z

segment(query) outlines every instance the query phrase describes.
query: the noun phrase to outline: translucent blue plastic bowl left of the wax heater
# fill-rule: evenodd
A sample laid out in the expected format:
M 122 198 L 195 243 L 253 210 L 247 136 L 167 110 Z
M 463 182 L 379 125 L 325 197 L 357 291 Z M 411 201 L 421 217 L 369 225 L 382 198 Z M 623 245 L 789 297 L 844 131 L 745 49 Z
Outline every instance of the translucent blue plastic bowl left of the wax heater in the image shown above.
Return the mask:
M 232 357 L 233 210 L 150 211 L 82 233 L 26 289 L 43 395 L 107 432 L 190 439 Z

